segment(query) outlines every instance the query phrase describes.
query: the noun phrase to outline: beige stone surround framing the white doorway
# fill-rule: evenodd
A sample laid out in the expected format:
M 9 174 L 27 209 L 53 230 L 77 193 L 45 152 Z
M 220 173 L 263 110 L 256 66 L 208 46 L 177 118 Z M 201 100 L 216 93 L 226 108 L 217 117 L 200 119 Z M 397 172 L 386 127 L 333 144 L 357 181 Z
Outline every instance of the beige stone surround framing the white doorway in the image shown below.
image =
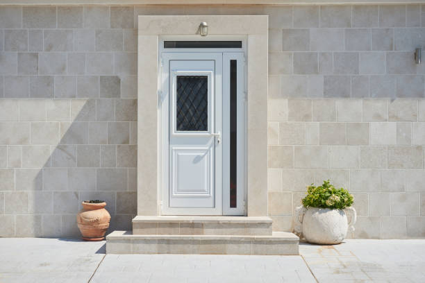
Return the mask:
M 161 213 L 158 42 L 161 36 L 196 35 L 201 22 L 208 23 L 208 35 L 247 37 L 247 214 L 267 216 L 268 16 L 263 15 L 138 17 L 138 215 Z

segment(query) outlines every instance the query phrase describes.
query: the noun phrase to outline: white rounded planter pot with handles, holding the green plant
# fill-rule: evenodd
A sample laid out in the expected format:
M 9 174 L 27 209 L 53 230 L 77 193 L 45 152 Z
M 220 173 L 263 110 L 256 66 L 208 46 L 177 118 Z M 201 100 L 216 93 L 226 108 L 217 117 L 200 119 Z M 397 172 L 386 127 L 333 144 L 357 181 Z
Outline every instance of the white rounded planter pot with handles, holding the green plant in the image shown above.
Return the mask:
M 328 209 L 299 206 L 295 209 L 294 230 L 309 243 L 341 243 L 347 232 L 354 231 L 356 209 Z

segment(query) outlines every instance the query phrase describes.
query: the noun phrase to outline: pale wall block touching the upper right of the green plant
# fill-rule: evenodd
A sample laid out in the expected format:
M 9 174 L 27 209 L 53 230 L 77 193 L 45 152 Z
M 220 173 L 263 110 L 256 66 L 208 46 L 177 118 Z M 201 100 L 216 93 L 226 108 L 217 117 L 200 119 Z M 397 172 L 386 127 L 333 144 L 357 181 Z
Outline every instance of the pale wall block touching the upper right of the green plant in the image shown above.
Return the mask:
M 351 191 L 379 191 L 381 188 L 381 175 L 377 170 L 351 170 Z

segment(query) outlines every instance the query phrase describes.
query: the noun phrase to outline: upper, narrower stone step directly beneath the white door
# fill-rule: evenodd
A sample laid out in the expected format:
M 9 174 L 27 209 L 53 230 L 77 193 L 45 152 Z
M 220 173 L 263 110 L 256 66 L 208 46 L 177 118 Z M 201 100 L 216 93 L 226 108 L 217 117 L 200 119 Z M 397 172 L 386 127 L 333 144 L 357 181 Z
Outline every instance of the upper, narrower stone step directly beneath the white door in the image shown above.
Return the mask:
M 272 235 L 267 216 L 135 216 L 133 234 Z

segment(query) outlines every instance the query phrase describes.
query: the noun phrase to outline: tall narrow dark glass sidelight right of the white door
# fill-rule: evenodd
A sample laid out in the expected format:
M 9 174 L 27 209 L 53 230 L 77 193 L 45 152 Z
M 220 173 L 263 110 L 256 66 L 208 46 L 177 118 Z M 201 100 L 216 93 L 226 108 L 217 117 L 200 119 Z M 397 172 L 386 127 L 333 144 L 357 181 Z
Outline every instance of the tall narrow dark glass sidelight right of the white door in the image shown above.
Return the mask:
M 236 207 L 238 191 L 237 182 L 237 132 L 238 128 L 238 65 L 237 60 L 230 60 L 230 207 Z

